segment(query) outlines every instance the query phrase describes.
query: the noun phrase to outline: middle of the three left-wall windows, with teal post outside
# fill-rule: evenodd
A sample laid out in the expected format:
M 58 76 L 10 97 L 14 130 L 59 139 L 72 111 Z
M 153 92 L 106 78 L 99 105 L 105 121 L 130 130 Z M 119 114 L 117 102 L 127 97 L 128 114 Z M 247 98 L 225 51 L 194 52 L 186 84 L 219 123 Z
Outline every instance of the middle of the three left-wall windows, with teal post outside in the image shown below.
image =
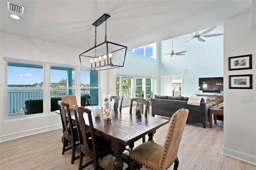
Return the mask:
M 58 110 L 62 96 L 75 95 L 75 68 L 50 66 L 51 112 Z

